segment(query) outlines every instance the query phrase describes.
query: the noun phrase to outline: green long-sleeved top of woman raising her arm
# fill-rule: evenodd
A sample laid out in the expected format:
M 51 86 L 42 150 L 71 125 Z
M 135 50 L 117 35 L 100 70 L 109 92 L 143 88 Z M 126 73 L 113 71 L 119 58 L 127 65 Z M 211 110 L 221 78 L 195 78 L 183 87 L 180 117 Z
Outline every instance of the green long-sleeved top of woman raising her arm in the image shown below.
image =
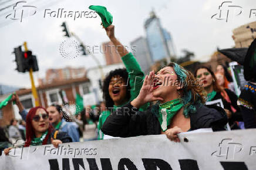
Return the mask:
M 129 75 L 129 82 L 131 87 L 131 90 L 130 90 L 131 97 L 129 99 L 129 102 L 130 102 L 134 100 L 134 98 L 136 98 L 140 93 L 140 89 L 142 88 L 142 84 L 144 80 L 144 73 L 142 72 L 142 69 L 140 69 L 140 65 L 139 63 L 137 63 L 137 60 L 135 59 L 132 53 L 128 53 L 127 55 L 123 56 L 122 60 Z M 127 104 L 127 103 L 124 103 L 124 104 Z M 114 107 L 113 110 L 116 110 L 117 107 L 122 107 L 122 106 L 113 106 Z M 149 103 L 144 104 L 142 107 L 140 107 L 139 110 L 144 111 L 147 109 L 147 107 L 149 107 Z M 98 140 L 103 140 L 103 133 L 100 129 L 102 128 L 102 125 L 104 124 L 104 122 L 106 121 L 107 117 L 109 117 L 110 114 L 111 114 L 110 111 L 107 110 L 107 111 L 103 111 L 102 114 L 100 115 L 99 123 L 97 125 L 98 132 L 99 132 Z

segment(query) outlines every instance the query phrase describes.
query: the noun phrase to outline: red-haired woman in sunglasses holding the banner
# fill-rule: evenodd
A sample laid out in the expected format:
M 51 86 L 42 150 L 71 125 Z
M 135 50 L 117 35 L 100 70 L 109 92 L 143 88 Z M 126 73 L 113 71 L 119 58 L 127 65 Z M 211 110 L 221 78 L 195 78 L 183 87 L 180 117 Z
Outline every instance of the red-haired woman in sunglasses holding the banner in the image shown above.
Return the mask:
M 30 145 L 47 145 L 53 144 L 58 147 L 59 144 L 72 142 L 66 132 L 56 131 L 49 123 L 49 113 L 43 107 L 33 107 L 29 110 L 26 116 L 26 142 L 24 147 Z M 4 150 L 5 155 L 8 155 L 12 148 Z

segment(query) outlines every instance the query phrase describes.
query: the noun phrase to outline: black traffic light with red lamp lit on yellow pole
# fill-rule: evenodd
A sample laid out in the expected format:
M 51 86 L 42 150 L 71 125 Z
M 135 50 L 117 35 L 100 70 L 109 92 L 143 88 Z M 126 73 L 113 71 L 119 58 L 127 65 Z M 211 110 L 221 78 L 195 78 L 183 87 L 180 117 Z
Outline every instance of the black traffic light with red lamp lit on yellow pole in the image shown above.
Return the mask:
M 15 62 L 17 64 L 16 70 L 18 72 L 29 72 L 32 68 L 33 72 L 39 70 L 36 56 L 32 55 L 31 51 L 22 52 L 21 46 L 14 48 Z

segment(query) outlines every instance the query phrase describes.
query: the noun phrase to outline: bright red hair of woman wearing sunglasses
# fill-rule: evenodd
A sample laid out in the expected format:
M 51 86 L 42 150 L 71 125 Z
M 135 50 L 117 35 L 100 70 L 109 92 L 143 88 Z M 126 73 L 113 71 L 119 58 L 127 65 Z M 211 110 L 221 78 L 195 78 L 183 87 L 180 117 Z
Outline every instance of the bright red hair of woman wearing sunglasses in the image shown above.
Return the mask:
M 31 145 L 32 139 L 35 137 L 35 130 L 32 125 L 32 120 L 33 120 L 33 117 L 35 116 L 36 110 L 38 110 L 38 108 L 42 108 L 43 110 L 46 111 L 45 108 L 38 106 L 38 107 L 31 108 L 31 110 L 29 110 L 29 112 L 28 112 L 28 115 L 26 115 L 26 142 L 25 142 L 24 147 L 29 147 L 29 145 Z M 48 111 L 46 111 L 46 113 L 49 114 Z M 53 127 L 49 123 L 48 134 L 46 135 L 45 139 L 43 140 L 43 143 L 42 143 L 43 145 L 47 144 L 49 135 L 52 133 L 52 131 L 53 131 Z

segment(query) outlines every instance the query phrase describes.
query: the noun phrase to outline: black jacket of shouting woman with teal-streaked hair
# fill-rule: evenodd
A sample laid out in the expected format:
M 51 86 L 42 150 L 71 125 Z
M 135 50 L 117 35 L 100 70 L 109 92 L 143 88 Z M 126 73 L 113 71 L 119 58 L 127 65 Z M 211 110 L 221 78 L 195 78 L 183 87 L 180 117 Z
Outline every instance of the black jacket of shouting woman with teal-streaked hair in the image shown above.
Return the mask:
M 225 130 L 227 116 L 221 107 L 203 105 L 196 106 L 196 113 L 190 113 L 190 130 L 213 128 L 214 131 Z M 107 117 L 102 132 L 113 137 L 135 137 L 138 135 L 161 134 L 161 126 L 157 119 L 155 105 L 146 111 L 138 111 L 129 103 L 114 111 Z M 128 111 L 129 109 L 129 111 Z

